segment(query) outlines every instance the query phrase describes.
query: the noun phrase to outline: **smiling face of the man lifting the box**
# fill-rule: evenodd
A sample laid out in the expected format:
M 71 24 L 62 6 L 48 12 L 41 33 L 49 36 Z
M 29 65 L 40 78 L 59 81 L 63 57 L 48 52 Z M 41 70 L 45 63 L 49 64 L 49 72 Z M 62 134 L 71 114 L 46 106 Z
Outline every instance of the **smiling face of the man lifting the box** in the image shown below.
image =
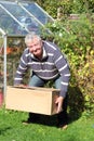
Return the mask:
M 35 56 L 41 57 L 42 56 L 42 41 L 38 38 L 33 38 L 27 42 L 27 47 Z

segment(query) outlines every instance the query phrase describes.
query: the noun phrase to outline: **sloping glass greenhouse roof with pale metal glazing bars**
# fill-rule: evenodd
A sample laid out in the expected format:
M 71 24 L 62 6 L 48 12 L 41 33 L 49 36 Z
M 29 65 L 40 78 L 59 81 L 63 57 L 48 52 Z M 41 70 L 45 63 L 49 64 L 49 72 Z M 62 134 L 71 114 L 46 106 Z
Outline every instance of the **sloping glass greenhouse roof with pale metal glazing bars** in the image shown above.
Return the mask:
M 40 34 L 40 28 L 53 21 L 36 2 L 0 1 L 0 35 Z

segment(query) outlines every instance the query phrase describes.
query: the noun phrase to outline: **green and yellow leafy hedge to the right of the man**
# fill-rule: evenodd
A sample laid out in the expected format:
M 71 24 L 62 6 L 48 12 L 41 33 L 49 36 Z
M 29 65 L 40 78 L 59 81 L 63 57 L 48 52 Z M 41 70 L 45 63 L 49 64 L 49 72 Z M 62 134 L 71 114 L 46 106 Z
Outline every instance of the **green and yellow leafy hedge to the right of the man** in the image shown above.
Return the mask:
M 79 15 L 78 20 L 67 18 L 66 21 L 56 21 L 54 24 L 46 25 L 53 31 L 51 37 L 49 35 L 48 38 L 53 39 L 59 46 L 61 50 L 67 54 L 71 70 L 70 88 L 73 88 L 73 91 L 69 88 L 70 93 L 82 93 L 84 97 L 84 99 L 82 97 L 84 106 L 80 102 L 80 110 L 82 108 L 83 111 L 93 111 L 94 108 L 93 21 L 91 16 L 82 14 Z M 79 102 L 76 105 L 76 110 L 78 106 Z

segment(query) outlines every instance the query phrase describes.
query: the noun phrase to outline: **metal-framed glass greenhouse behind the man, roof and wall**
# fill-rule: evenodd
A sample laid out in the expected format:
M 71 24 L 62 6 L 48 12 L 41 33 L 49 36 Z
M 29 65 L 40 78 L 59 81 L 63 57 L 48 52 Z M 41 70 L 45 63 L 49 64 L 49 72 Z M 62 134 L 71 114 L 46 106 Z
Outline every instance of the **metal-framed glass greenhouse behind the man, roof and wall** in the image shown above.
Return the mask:
M 54 20 L 35 2 L 0 1 L 0 87 L 13 85 L 27 33 L 41 35 Z

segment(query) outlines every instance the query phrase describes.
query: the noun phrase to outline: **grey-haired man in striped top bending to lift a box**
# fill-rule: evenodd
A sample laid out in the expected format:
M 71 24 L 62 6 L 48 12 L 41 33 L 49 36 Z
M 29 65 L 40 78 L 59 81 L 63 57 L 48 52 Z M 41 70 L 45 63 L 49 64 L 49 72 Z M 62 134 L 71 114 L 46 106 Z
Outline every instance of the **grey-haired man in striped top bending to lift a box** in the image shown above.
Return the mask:
M 53 80 L 55 88 L 61 89 L 56 99 L 57 117 L 59 127 L 67 127 L 67 89 L 69 84 L 69 65 L 59 48 L 49 41 L 43 41 L 39 35 L 30 33 L 25 37 L 26 49 L 22 54 L 18 68 L 14 78 L 14 85 L 21 85 L 23 76 L 29 67 L 32 75 L 30 87 L 43 87 Z M 38 114 L 29 113 L 28 123 L 38 119 Z

